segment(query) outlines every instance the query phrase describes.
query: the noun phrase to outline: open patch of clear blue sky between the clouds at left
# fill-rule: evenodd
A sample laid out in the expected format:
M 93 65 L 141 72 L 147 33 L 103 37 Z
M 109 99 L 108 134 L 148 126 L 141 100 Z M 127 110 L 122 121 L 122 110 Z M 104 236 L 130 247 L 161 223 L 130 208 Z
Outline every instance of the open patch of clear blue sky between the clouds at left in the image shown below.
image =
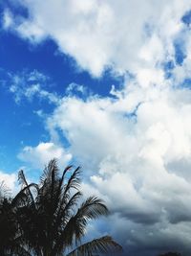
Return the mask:
M 11 4 L 8 6 L 12 7 Z M 20 13 L 20 8 L 18 10 Z M 50 114 L 54 107 L 54 105 L 47 103 L 46 99 L 39 101 L 38 98 L 32 99 L 32 101 L 22 99 L 16 103 L 14 95 L 10 92 L 12 76 L 27 77 L 32 72 L 38 72 L 46 78 L 46 82 L 43 81 L 44 89 L 50 93 L 56 93 L 60 97 L 66 95 L 66 88 L 72 83 L 84 85 L 87 91 L 92 94 L 107 96 L 112 84 L 120 86 L 123 77 L 114 76 L 112 71 L 108 69 L 100 78 L 94 78 L 85 70 L 80 70 L 74 58 L 60 53 L 52 39 L 48 38 L 38 45 L 31 45 L 29 41 L 22 40 L 15 33 L 5 31 L 3 29 L 4 11 L 5 7 L 2 6 L 0 37 L 1 108 L 6 110 L 1 113 L 2 119 L 5 120 L 1 128 L 1 170 L 12 172 L 22 165 L 16 156 L 24 145 L 35 146 L 40 140 L 48 141 L 50 139 L 49 133 L 35 111 L 40 109 Z M 13 12 L 15 12 L 15 7 Z M 21 13 L 23 14 L 23 12 Z M 23 85 L 25 86 L 25 84 Z M 83 97 L 77 91 L 75 93 L 77 96 Z

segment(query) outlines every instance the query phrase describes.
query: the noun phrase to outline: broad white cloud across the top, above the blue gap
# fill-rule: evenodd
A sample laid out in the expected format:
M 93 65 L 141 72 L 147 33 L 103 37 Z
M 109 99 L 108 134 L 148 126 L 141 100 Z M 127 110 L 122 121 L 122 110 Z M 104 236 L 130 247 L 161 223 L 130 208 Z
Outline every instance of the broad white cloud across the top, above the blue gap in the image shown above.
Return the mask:
M 4 14 L 5 28 L 32 43 L 51 37 L 60 52 L 82 69 L 100 76 L 108 66 L 135 74 L 143 65 L 155 67 L 174 58 L 174 40 L 182 31 L 181 16 L 189 0 L 39 0 L 19 1 L 29 17 Z

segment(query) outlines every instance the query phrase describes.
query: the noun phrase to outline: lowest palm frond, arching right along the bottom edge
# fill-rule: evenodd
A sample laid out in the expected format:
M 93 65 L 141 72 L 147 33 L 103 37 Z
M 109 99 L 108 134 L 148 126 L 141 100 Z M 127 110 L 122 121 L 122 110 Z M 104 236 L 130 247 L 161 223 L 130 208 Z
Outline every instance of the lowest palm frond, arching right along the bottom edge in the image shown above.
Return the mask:
M 75 248 L 67 256 L 93 256 L 95 253 L 122 251 L 122 247 L 112 237 L 104 236 Z

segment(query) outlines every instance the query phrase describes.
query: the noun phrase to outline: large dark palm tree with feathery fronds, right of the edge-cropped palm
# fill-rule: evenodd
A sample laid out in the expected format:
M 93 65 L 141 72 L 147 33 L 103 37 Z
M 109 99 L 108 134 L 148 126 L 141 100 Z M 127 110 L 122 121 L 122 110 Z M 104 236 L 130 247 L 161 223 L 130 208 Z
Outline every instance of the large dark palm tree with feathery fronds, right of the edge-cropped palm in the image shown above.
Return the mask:
M 53 159 L 38 185 L 28 184 L 23 171 L 19 172 L 22 189 L 13 203 L 17 205 L 17 220 L 25 248 L 36 256 L 93 256 L 121 250 L 110 236 L 81 244 L 88 221 L 107 215 L 108 209 L 96 197 L 82 201 L 80 168 L 69 175 L 71 170 L 69 166 L 59 175 Z

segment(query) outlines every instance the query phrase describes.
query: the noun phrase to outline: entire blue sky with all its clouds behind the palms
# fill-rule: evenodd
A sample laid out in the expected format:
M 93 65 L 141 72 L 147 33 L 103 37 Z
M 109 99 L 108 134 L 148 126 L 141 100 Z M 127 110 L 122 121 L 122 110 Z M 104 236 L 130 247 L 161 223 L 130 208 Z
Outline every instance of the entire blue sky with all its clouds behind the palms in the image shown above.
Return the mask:
M 1 0 L 0 180 L 81 166 L 124 255 L 191 251 L 191 0 Z

